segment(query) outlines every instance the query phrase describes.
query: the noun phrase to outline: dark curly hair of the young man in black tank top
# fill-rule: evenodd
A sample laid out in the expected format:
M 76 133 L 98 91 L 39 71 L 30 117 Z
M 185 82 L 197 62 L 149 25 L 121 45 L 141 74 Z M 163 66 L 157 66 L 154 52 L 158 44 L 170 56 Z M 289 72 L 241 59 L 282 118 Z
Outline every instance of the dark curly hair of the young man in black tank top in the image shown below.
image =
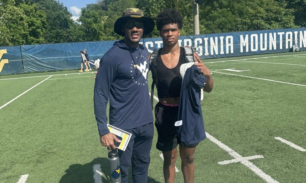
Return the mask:
M 156 17 L 157 30 L 162 30 L 162 27 L 169 23 L 177 23 L 179 29 L 183 27 L 183 17 L 176 9 L 165 9 Z

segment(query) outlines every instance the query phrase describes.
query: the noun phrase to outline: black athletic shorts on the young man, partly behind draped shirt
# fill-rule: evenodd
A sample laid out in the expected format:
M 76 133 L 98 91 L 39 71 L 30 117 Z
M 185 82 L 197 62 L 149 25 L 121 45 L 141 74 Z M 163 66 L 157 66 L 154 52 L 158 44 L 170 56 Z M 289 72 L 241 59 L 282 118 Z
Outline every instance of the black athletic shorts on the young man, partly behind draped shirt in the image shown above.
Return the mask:
M 177 128 L 174 123 L 177 121 L 178 106 L 164 106 L 158 102 L 155 106 L 155 127 L 158 139 L 156 148 L 160 151 L 172 151 L 178 144 L 187 148 L 194 148 L 198 143 L 186 144 L 177 138 Z

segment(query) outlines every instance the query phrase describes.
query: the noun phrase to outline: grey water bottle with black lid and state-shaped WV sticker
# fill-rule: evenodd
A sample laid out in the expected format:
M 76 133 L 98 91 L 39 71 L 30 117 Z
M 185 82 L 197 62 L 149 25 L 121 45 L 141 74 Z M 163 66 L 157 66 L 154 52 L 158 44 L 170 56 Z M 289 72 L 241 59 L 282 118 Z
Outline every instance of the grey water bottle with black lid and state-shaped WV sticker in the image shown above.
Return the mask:
M 108 170 L 110 172 L 110 182 L 120 183 L 121 182 L 121 169 L 120 161 L 117 148 L 114 150 L 108 150 Z

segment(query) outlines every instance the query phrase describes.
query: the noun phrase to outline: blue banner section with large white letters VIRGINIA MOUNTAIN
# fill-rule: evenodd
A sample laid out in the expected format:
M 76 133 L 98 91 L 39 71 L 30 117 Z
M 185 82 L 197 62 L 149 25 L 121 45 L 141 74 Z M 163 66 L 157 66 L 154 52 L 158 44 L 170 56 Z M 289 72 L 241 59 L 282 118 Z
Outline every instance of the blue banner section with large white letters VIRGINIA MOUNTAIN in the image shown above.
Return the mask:
M 149 52 L 163 47 L 161 38 L 147 38 L 144 45 Z M 303 51 L 306 28 L 180 36 L 179 45 L 197 47 L 201 59 L 289 52 L 293 45 Z

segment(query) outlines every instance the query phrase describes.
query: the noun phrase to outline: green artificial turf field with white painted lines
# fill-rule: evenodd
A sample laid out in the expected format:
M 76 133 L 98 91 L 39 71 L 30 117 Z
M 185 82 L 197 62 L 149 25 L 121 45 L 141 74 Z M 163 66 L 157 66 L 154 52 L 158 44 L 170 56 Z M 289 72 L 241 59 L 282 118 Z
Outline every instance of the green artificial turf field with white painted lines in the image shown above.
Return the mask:
M 213 91 L 202 101 L 206 132 L 241 157 L 263 156 L 248 162 L 271 179 L 306 182 L 306 152 L 274 138 L 306 149 L 306 54 L 203 62 L 214 79 Z M 233 68 L 248 71 L 223 70 Z M 0 182 L 15 183 L 25 174 L 26 183 L 95 182 L 95 164 L 100 164 L 102 182 L 109 182 L 107 150 L 98 141 L 93 109 L 94 75 L 73 70 L 0 76 L 0 107 L 9 102 L 0 109 Z M 164 182 L 156 141 L 155 130 L 149 183 Z M 232 159 L 206 138 L 196 148 L 194 182 L 268 182 L 241 162 L 218 164 Z M 184 182 L 179 155 L 176 167 L 175 182 Z

